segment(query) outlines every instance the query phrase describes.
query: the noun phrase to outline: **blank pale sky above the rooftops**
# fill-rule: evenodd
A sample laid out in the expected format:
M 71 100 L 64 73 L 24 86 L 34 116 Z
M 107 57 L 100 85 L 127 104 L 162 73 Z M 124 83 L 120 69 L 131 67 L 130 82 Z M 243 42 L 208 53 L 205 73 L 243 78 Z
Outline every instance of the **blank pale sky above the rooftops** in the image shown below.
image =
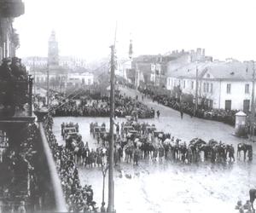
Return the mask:
M 23 0 L 15 19 L 20 34 L 17 56 L 46 56 L 55 30 L 60 55 L 97 60 L 116 54 L 166 54 L 175 49 L 206 49 L 224 60 L 256 60 L 255 0 Z M 117 27 L 115 27 L 117 26 Z

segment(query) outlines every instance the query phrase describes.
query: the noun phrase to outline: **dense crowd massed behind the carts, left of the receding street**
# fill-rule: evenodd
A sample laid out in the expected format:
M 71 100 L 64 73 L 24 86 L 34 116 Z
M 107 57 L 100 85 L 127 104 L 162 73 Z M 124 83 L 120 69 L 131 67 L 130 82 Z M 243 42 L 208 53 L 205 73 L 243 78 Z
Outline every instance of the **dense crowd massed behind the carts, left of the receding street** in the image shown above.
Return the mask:
M 84 117 L 108 117 L 110 115 L 110 101 L 108 97 L 92 100 L 90 97 L 79 100 L 59 99 L 54 107 L 53 115 L 56 116 L 84 116 Z M 154 109 L 149 108 L 140 101 L 125 95 L 115 98 L 115 116 L 124 118 L 131 114 L 137 114 L 138 118 L 154 118 Z

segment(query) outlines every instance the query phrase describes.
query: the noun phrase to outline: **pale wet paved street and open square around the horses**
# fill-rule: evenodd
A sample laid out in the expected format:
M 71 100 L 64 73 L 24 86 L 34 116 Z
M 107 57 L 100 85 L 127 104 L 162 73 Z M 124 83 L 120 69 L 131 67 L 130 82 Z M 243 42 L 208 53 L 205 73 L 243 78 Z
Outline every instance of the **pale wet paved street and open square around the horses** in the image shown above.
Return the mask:
M 135 95 L 131 89 L 122 89 L 126 95 Z M 227 124 L 199 118 L 190 118 L 168 107 L 150 100 L 144 100 L 148 107 L 160 110 L 160 119 L 143 119 L 155 124 L 158 130 L 170 132 L 173 136 L 189 141 L 200 137 L 207 141 L 216 139 L 225 143 L 243 141 L 232 135 L 234 128 Z M 118 118 L 119 123 L 123 118 Z M 61 140 L 61 123 L 79 123 L 79 131 L 90 147 L 96 141 L 90 136 L 90 122 L 107 124 L 109 118 L 55 118 L 54 132 Z M 235 146 L 236 147 L 236 146 Z M 253 145 L 254 147 L 254 145 Z M 254 147 L 255 150 L 255 147 Z M 255 155 L 253 155 L 255 158 Z M 173 164 L 169 161 L 152 162 L 143 160 L 138 166 L 122 163 L 115 167 L 115 209 L 117 212 L 237 212 L 238 199 L 245 202 L 248 191 L 256 186 L 255 159 L 252 163 L 237 161 L 234 164 Z M 131 175 L 131 179 L 125 177 Z M 79 167 L 82 183 L 92 185 L 95 200 L 102 202 L 102 171 L 100 168 Z M 108 179 L 106 180 L 108 185 Z M 136 195 L 136 196 L 134 196 Z M 108 189 L 105 191 L 108 203 Z M 140 209 L 138 209 L 140 208 Z

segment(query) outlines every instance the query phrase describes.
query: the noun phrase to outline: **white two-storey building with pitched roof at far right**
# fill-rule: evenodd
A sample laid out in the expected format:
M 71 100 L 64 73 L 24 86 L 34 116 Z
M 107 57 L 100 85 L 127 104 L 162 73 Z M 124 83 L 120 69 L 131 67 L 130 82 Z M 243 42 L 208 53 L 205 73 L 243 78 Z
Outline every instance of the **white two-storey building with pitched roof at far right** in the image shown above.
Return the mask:
M 209 108 L 250 110 L 253 87 L 252 63 L 239 61 L 191 62 L 168 67 L 166 89 L 177 97 L 195 102 L 196 82 L 198 101 Z M 197 69 L 197 78 L 196 78 Z M 178 88 L 178 89 L 177 89 Z M 189 99 L 189 100 L 188 100 Z

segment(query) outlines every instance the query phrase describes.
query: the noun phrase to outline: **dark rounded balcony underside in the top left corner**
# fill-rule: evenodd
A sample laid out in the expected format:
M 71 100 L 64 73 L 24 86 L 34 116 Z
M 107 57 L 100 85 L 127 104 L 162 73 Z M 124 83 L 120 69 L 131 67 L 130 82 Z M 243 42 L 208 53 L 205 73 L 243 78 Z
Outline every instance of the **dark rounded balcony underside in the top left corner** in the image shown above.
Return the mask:
M 0 16 L 3 18 L 15 18 L 24 14 L 25 6 L 21 0 L 0 0 Z

